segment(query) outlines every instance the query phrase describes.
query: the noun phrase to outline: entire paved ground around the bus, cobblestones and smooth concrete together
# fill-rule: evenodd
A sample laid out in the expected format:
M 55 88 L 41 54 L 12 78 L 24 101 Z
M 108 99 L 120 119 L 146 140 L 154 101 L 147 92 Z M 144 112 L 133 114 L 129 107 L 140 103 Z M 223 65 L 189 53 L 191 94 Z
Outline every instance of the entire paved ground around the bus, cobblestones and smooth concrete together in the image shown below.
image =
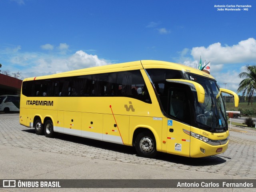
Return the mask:
M 38 136 L 33 129 L 21 126 L 18 120 L 19 114 L 0 114 L 0 179 L 121 178 L 145 179 L 145 182 L 148 179 L 256 179 L 256 130 L 232 127 L 228 150 L 220 155 L 194 159 L 159 153 L 156 158 L 147 159 L 137 156 L 134 148 L 129 146 L 64 134 L 58 134 L 56 138 Z M 41 190 L 52 191 L 38 189 Z M 6 191 L 28 189 L 8 188 Z M 144 190 L 133 188 L 86 191 Z M 213 188 L 209 191 L 220 189 Z M 236 188 L 223 191 L 254 190 Z

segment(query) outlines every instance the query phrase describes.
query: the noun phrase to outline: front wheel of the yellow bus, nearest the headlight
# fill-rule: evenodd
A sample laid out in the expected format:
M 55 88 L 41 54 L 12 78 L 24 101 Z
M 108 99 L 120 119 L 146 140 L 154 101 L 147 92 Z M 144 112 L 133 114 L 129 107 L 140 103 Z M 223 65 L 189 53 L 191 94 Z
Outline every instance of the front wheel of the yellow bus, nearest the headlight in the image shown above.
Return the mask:
M 139 156 L 153 158 L 156 156 L 156 140 L 151 132 L 141 132 L 136 136 L 135 149 Z

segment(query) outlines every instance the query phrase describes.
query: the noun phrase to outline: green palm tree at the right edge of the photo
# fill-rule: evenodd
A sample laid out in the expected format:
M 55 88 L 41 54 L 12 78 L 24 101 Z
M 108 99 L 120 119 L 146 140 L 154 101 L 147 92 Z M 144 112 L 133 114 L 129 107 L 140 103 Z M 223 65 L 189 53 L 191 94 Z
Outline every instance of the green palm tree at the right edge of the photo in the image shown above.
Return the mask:
M 238 76 L 245 78 L 239 84 L 237 92 L 242 92 L 242 95 L 246 95 L 248 98 L 248 105 L 252 103 L 252 96 L 256 94 L 256 66 L 246 66 L 247 72 L 242 72 Z

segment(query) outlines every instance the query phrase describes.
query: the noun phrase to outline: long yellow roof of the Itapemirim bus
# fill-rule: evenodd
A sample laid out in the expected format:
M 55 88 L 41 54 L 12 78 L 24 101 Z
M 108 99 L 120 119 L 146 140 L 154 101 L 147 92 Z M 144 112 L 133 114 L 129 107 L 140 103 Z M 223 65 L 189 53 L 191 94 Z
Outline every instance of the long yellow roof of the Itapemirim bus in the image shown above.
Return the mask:
M 191 72 L 194 74 L 198 74 L 201 76 L 206 76 L 208 78 L 214 79 L 211 75 L 189 67 L 182 64 L 166 62 L 166 61 L 157 61 L 157 60 L 141 60 L 141 61 L 134 61 L 134 62 L 126 62 L 120 64 L 110 64 L 104 66 L 96 66 L 91 68 L 84 68 L 79 70 L 72 70 L 47 76 L 38 76 L 32 78 L 26 78 L 26 80 L 38 80 L 38 79 L 48 79 L 48 78 L 58 78 L 58 77 L 65 77 L 65 76 L 80 76 L 80 75 L 88 75 L 88 74 L 100 74 L 100 73 L 108 73 L 108 72 L 116 72 L 116 71 L 126 71 L 126 70 L 138 70 L 138 69 L 149 69 L 149 68 L 163 68 L 163 69 L 174 69 L 174 70 L 182 70 Z

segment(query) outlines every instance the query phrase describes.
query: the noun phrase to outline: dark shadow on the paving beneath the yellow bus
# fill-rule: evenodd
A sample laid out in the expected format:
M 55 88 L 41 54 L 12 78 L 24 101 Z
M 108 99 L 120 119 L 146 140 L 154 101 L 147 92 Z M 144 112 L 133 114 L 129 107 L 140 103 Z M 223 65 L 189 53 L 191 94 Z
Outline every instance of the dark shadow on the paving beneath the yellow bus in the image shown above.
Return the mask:
M 28 130 L 22 130 L 22 131 L 36 134 L 34 129 L 28 129 Z M 125 145 L 104 142 L 104 141 L 94 140 L 89 138 L 83 138 L 78 136 L 72 136 L 67 134 L 61 134 L 61 133 L 57 133 L 53 139 L 58 139 L 58 140 L 73 142 L 73 143 L 82 144 L 86 146 L 91 146 L 99 149 L 109 150 L 113 152 L 119 152 L 119 153 L 124 153 L 128 155 L 138 156 L 135 148 L 131 146 L 125 146 Z M 160 160 L 160 161 L 165 161 L 165 162 L 170 162 L 175 164 L 184 164 L 189 166 L 211 166 L 211 165 L 218 165 L 218 164 L 225 163 L 226 160 L 224 158 L 226 157 L 209 156 L 209 157 L 203 157 L 203 158 L 189 158 L 184 156 L 158 152 L 154 160 Z

